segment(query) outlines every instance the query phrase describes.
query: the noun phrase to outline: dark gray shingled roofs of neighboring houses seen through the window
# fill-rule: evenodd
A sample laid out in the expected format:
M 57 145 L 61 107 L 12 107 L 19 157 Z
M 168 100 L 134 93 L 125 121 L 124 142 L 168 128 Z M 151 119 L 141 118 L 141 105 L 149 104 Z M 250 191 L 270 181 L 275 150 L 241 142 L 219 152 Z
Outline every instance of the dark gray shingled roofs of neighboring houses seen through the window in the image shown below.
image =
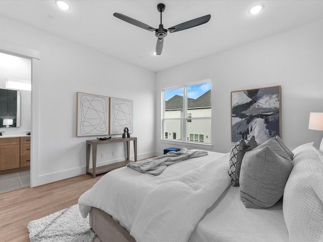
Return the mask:
M 205 92 L 196 99 L 187 99 L 188 108 L 211 107 L 211 90 Z M 183 97 L 175 95 L 165 102 L 165 110 L 183 109 Z

